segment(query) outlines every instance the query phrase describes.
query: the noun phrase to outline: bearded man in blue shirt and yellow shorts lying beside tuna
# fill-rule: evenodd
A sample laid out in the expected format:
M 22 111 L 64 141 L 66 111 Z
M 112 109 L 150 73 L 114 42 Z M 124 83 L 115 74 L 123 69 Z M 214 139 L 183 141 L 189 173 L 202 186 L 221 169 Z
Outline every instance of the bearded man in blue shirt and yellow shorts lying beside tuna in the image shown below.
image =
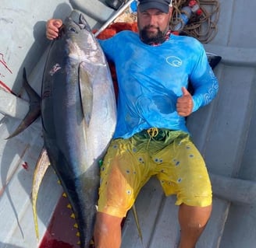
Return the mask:
M 185 117 L 211 102 L 218 81 L 202 45 L 171 34 L 171 16 L 171 0 L 140 0 L 139 33 L 123 31 L 100 40 L 116 65 L 119 98 L 116 132 L 101 166 L 97 248 L 121 246 L 121 221 L 154 175 L 166 196 L 176 194 L 179 248 L 195 247 L 211 215 L 211 183 Z M 61 25 L 59 19 L 48 21 L 48 39 L 58 37 Z

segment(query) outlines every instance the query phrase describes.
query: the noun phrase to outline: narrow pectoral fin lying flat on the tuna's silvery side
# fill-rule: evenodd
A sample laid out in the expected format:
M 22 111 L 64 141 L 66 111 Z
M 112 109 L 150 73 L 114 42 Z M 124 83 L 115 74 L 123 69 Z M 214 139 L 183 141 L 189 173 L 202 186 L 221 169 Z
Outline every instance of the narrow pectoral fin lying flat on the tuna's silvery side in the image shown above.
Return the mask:
M 84 121 L 89 126 L 91 121 L 91 111 L 93 105 L 93 86 L 90 75 L 84 69 L 84 62 L 79 66 L 79 85 L 80 85 L 80 99 L 84 114 Z

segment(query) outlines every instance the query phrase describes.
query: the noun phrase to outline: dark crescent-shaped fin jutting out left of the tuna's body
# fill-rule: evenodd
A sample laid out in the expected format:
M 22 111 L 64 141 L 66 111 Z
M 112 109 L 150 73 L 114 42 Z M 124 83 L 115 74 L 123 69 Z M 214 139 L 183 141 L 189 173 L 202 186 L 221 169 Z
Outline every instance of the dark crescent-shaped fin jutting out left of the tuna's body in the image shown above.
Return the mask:
M 27 113 L 26 117 L 24 117 L 23 121 L 21 121 L 19 126 L 16 128 L 16 130 L 6 139 L 12 138 L 17 134 L 20 134 L 27 127 L 29 127 L 30 124 L 32 124 L 41 114 L 41 97 L 27 82 L 27 74 L 25 68 L 23 68 L 23 87 L 26 90 L 30 99 L 30 110 Z

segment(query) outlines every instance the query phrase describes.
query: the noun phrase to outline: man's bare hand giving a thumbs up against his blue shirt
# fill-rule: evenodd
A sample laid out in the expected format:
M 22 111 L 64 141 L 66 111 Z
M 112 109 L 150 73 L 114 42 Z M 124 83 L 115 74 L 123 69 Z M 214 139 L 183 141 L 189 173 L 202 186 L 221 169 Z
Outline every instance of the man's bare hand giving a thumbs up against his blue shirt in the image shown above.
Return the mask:
M 182 87 L 183 95 L 177 99 L 176 110 L 182 117 L 187 117 L 192 113 L 194 103 L 192 96 L 185 87 Z

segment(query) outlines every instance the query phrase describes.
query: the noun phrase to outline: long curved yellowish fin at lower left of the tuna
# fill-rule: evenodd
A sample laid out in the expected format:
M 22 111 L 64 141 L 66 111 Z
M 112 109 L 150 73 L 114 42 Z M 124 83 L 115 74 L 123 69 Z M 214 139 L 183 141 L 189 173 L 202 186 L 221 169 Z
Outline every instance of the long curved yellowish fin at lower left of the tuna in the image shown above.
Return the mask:
M 37 194 L 43 180 L 44 174 L 50 165 L 46 150 L 43 148 L 41 155 L 37 160 L 37 165 L 34 169 L 33 185 L 32 185 L 32 208 L 34 216 L 34 228 L 37 235 L 37 241 L 39 239 L 38 223 L 37 223 Z

